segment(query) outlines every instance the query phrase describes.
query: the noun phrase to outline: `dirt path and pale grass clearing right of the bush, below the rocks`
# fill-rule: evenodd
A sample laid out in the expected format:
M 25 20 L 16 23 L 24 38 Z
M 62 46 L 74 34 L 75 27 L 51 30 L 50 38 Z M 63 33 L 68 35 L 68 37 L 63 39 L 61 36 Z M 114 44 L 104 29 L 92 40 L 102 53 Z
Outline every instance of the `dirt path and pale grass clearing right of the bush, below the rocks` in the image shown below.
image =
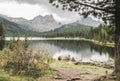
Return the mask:
M 66 62 L 55 62 L 51 64 L 51 67 L 55 70 L 56 75 L 50 78 L 42 78 L 39 81 L 97 81 L 95 79 L 104 78 L 113 71 L 92 65 L 73 65 Z M 109 78 L 104 81 L 114 81 Z

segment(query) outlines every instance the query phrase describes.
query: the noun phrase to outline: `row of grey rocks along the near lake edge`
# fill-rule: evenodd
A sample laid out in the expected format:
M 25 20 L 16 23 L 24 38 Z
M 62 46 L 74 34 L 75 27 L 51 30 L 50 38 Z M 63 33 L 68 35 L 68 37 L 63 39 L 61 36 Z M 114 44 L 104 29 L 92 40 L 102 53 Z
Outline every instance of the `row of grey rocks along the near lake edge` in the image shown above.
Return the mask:
M 71 61 L 72 63 L 70 64 L 84 64 L 84 65 L 95 65 L 98 67 L 103 67 L 107 69 L 114 69 L 114 62 L 113 61 L 108 61 L 108 62 L 97 62 L 94 60 L 91 60 L 90 62 L 82 62 L 82 59 L 80 57 L 73 57 L 71 55 L 61 55 L 58 57 L 58 60 L 63 60 L 63 61 Z

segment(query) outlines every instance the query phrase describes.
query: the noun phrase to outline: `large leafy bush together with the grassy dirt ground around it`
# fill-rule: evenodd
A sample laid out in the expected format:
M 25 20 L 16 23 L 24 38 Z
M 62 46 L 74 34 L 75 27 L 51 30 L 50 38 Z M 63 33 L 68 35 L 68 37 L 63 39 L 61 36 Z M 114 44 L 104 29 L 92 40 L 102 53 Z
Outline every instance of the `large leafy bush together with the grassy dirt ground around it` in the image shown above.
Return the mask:
M 112 72 L 111 69 L 94 65 L 73 65 L 53 60 L 42 51 L 30 49 L 27 38 L 24 41 L 13 39 L 0 51 L 0 81 L 57 81 L 60 78 L 63 81 L 70 78 L 84 81 L 103 76 L 106 71 L 108 74 Z

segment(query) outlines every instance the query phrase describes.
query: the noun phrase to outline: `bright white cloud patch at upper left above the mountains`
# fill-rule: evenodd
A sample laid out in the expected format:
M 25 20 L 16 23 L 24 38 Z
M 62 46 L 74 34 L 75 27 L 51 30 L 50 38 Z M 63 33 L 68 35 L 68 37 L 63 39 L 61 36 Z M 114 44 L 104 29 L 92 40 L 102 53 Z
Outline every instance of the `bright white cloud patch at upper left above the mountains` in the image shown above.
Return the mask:
M 4 2 L 0 3 L 0 14 L 11 17 L 23 17 L 26 19 L 32 19 L 37 15 L 44 16 L 49 13 L 38 5 L 18 4 L 16 2 Z

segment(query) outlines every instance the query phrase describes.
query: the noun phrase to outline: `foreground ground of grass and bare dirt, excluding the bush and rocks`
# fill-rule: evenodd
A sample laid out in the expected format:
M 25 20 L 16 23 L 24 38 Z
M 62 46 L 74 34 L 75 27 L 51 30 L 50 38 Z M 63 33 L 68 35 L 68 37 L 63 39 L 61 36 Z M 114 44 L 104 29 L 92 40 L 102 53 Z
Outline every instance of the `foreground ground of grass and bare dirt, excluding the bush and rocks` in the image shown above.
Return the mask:
M 94 79 L 103 75 L 111 74 L 112 70 L 97 67 L 93 65 L 73 65 L 64 61 L 53 61 L 50 67 L 54 72 L 50 72 L 45 76 L 39 77 L 37 81 L 58 81 L 56 78 L 63 78 L 63 81 L 69 78 Z M 80 76 L 82 75 L 82 76 Z M 69 77 L 68 77 L 69 76 Z M 4 70 L 0 70 L 0 81 L 34 81 L 34 79 L 25 76 L 10 75 Z

